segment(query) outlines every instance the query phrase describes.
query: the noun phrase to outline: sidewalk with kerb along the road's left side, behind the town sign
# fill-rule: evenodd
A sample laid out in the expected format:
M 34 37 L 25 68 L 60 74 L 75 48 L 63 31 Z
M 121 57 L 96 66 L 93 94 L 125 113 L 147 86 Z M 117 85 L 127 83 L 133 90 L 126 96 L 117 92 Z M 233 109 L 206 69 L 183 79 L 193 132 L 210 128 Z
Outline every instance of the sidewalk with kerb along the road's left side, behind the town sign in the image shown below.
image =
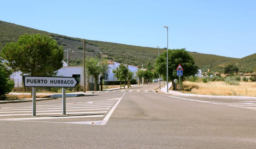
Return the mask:
M 135 85 L 131 85 L 131 87 L 137 86 L 138 84 Z M 121 89 L 123 89 L 124 87 L 122 87 Z M 127 89 L 127 86 L 125 87 Z M 120 90 L 119 88 L 113 88 L 113 89 L 106 89 L 106 91 L 113 91 L 113 90 Z M 105 90 L 103 90 L 105 91 Z M 98 92 L 102 92 L 102 91 L 86 91 L 86 93 L 83 92 L 73 92 L 73 93 L 66 93 L 66 94 L 91 94 L 91 93 L 98 93 Z M 12 95 L 20 95 L 20 94 L 31 94 L 31 93 L 9 93 Z M 36 93 L 37 95 L 54 95 L 54 94 L 62 94 L 62 93 Z M 41 100 L 53 100 L 53 99 L 57 99 L 57 98 L 36 98 L 36 101 L 41 101 Z M 32 98 L 24 98 L 24 99 L 10 99 L 10 100 L 0 100 L 0 104 L 1 103 L 17 103 L 17 102 L 30 102 L 32 101 Z

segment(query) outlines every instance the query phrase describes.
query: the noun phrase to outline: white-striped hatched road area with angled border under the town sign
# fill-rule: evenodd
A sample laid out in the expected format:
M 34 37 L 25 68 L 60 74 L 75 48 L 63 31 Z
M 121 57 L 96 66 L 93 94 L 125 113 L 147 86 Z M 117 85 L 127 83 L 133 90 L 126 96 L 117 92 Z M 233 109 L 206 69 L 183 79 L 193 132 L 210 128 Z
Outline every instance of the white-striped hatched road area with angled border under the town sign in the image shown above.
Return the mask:
M 124 96 L 125 93 L 123 93 Z M 122 96 L 122 97 L 123 97 Z M 50 116 L 50 115 L 62 115 L 63 113 L 58 113 L 62 111 L 62 104 L 47 104 L 47 105 L 37 105 L 37 115 L 40 117 L 26 117 L 32 116 L 32 106 L 13 106 L 13 107 L 2 107 L 0 108 L 0 121 L 26 121 L 26 122 L 42 122 L 42 123 L 69 123 L 69 124 L 95 124 L 95 125 L 105 125 L 110 118 L 111 114 L 115 110 L 116 106 L 122 99 L 112 98 L 103 99 L 97 101 L 85 101 L 85 102 L 70 102 L 66 105 L 66 111 L 68 111 L 63 116 Z M 111 108 L 112 107 L 112 108 Z M 79 111 L 79 112 L 75 112 Z M 42 113 L 40 113 L 42 112 Z M 69 115 L 70 114 L 70 115 Z M 83 115 L 86 114 L 86 115 Z M 16 118 L 11 118 L 15 116 Z M 18 117 L 20 116 L 20 117 Z M 8 118 L 5 118 L 8 117 Z M 17 118 L 18 117 L 18 118 Z M 102 121 L 85 121 L 85 122 L 46 122 L 46 121 L 31 121 L 31 120 L 43 120 L 43 119 L 73 119 L 73 118 L 96 118 L 105 117 Z M 70 121 L 70 120 L 69 120 Z

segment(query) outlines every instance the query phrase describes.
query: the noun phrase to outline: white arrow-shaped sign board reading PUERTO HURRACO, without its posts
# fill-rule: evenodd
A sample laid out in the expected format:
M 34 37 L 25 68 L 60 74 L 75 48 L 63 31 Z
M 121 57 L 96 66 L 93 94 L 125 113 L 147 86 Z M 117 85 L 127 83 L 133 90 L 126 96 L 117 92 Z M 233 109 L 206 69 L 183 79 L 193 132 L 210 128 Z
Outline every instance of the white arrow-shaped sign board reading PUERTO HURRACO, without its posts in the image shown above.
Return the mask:
M 79 84 L 74 77 L 41 77 L 41 76 L 24 76 L 25 87 L 61 87 L 74 88 Z

